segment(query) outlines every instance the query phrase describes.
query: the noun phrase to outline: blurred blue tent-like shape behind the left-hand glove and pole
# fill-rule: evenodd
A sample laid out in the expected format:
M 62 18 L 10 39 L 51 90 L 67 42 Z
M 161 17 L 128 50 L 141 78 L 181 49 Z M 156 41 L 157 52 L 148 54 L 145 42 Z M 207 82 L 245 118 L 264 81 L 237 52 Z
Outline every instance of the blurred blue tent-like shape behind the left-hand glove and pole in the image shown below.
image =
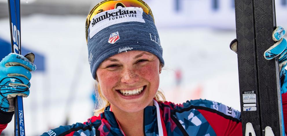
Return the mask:
M 21 47 L 21 53 L 23 56 L 25 56 L 25 54 L 32 52 L 35 54 L 35 61 L 34 64 L 37 66 L 37 70 L 38 71 L 45 71 L 45 57 L 43 55 L 40 55 L 39 53 L 32 51 L 32 50 L 28 50 L 27 48 L 24 48 L 25 46 Z M 11 53 L 11 43 L 9 43 L 8 41 L 3 40 L 2 38 L 0 38 L 0 58 L 2 60 L 2 58 L 4 58 L 5 56 L 7 56 L 9 53 Z

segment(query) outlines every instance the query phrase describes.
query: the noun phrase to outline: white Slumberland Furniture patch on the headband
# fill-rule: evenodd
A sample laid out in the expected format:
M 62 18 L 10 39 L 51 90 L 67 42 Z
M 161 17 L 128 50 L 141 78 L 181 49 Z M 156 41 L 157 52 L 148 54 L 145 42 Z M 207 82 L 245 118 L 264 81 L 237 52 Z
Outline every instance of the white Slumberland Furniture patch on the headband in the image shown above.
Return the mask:
M 124 7 L 108 10 L 95 15 L 89 26 L 90 38 L 111 25 L 124 22 L 145 23 L 143 19 L 143 9 L 140 7 Z

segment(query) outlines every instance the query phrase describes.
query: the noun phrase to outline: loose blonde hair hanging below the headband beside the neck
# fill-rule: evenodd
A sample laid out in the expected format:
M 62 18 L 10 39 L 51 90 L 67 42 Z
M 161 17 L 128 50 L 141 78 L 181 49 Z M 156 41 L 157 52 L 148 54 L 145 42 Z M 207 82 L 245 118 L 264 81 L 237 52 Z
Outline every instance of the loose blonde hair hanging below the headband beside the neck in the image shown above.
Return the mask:
M 99 108 L 94 109 L 94 116 L 99 116 L 102 112 L 104 112 L 105 108 L 107 106 L 110 106 L 111 103 L 106 99 L 106 97 L 104 97 L 104 95 L 102 94 L 101 88 L 100 88 L 100 84 L 97 83 L 97 91 L 98 94 L 96 97 L 96 99 L 99 101 Z M 158 90 L 157 93 L 154 96 L 154 99 L 157 100 L 158 102 L 164 102 L 165 101 L 165 97 L 162 91 Z M 97 106 L 97 105 L 96 105 Z

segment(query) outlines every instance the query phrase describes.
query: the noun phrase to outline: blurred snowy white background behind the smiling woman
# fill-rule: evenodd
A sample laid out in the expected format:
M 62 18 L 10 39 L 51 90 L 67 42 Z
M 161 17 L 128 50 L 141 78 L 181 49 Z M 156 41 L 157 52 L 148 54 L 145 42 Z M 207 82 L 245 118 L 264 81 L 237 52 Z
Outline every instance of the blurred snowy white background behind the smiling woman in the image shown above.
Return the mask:
M 287 27 L 287 1 L 275 1 L 277 24 Z M 0 6 L 5 2 L 0 0 Z M 98 1 L 43 0 L 37 3 L 34 0 L 23 3 L 21 10 L 29 4 L 45 5 L 45 2 L 75 7 L 81 3 L 79 6 L 89 7 L 88 13 Z M 160 90 L 167 100 L 183 103 L 201 98 L 240 110 L 237 55 L 229 49 L 230 41 L 236 38 L 233 1 L 146 2 L 153 11 L 164 50 L 165 68 L 160 75 Z M 32 73 L 30 96 L 23 99 L 25 131 L 29 136 L 41 135 L 66 122 L 85 122 L 94 108 L 91 97 L 95 81 L 90 73 L 84 33 L 87 15 L 45 13 L 21 17 L 22 47 L 45 56 L 46 66 L 45 71 Z M 10 42 L 7 17 L 0 18 L 0 37 Z M 175 71 L 182 73 L 178 86 Z M 14 135 L 13 121 L 4 133 Z

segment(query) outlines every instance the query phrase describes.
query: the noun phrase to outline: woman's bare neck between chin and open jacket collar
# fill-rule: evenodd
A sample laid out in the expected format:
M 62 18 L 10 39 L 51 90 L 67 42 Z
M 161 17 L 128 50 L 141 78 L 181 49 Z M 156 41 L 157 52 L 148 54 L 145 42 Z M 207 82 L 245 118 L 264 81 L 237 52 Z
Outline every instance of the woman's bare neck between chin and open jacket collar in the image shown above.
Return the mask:
M 152 106 L 151 102 L 148 106 Z M 119 122 L 119 125 L 126 135 L 138 135 L 143 136 L 143 109 L 139 112 L 125 112 L 115 105 L 111 104 L 111 109 L 115 118 Z

